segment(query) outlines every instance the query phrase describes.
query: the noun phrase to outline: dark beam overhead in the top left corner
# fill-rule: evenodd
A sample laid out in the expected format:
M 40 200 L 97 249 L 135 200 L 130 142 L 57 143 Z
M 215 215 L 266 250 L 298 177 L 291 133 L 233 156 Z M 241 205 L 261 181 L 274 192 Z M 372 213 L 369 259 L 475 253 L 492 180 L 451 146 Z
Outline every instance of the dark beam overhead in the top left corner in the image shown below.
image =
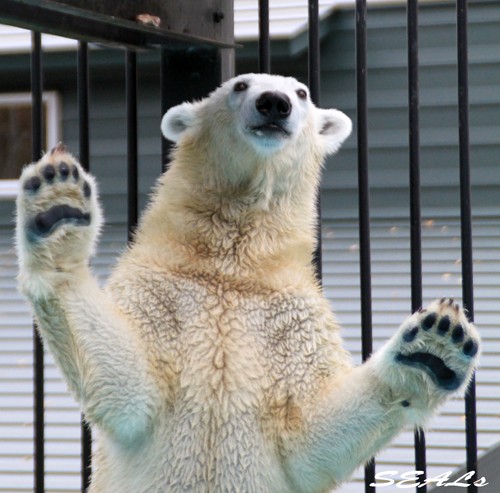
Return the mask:
M 144 14 L 159 25 L 139 22 Z M 230 0 L 2 0 L 0 22 L 129 48 L 234 47 Z

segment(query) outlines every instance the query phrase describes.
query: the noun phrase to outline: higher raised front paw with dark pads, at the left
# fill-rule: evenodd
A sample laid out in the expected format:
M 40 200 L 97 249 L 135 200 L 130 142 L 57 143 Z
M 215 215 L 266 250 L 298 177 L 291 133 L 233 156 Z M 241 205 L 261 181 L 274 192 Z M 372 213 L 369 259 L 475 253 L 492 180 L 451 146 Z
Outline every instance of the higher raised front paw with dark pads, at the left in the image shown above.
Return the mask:
M 27 166 L 17 199 L 22 259 L 31 255 L 54 267 L 85 260 L 101 225 L 96 195 L 93 178 L 61 144 Z

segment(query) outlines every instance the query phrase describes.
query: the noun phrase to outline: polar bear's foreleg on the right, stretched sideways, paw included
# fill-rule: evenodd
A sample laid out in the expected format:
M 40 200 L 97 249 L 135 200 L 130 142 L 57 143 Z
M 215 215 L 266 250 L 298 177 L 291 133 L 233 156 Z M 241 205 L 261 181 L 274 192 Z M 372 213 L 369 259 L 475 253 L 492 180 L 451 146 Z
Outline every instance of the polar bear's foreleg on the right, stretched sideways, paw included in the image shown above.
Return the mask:
M 479 335 L 453 300 L 409 317 L 370 360 L 329 382 L 305 432 L 290 437 L 287 470 L 298 491 L 329 491 L 405 427 L 423 426 L 465 388 L 478 351 Z

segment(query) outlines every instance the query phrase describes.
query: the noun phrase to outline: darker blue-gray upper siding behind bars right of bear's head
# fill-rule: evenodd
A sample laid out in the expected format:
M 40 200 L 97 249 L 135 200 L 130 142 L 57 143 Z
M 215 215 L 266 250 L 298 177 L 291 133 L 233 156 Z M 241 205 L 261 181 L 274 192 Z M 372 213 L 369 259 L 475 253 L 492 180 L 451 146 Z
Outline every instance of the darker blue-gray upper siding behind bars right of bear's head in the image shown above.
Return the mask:
M 420 6 L 420 122 L 424 209 L 458 204 L 457 49 L 453 3 Z M 356 92 L 354 12 L 337 11 L 325 21 L 321 45 L 321 105 L 345 111 L 353 135 L 328 160 L 323 179 L 325 213 L 356 210 Z M 469 2 L 470 141 L 473 204 L 499 207 L 500 9 Z M 408 202 L 408 75 L 404 6 L 369 7 L 368 125 L 370 185 L 374 214 Z M 248 48 L 247 48 L 248 49 Z M 299 63 L 300 60 L 300 63 Z M 273 60 L 275 70 L 307 80 L 305 55 L 295 63 Z M 302 64 L 302 65 L 301 65 Z M 251 63 L 241 60 L 239 71 Z M 302 67 L 302 69 L 300 68 Z M 379 212 L 380 211 L 380 212 Z

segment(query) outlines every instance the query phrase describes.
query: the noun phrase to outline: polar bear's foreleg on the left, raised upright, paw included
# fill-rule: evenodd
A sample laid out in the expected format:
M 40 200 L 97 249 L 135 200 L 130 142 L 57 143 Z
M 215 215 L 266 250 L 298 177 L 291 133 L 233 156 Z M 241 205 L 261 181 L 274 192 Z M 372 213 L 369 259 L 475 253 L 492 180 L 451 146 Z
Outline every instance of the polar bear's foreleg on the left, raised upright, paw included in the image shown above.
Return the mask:
M 156 384 L 129 320 L 88 267 L 101 222 L 94 180 L 58 146 L 20 184 L 20 289 L 86 419 L 135 441 L 156 413 Z

